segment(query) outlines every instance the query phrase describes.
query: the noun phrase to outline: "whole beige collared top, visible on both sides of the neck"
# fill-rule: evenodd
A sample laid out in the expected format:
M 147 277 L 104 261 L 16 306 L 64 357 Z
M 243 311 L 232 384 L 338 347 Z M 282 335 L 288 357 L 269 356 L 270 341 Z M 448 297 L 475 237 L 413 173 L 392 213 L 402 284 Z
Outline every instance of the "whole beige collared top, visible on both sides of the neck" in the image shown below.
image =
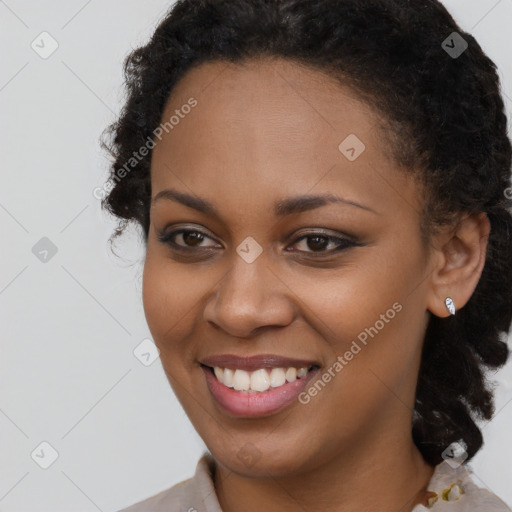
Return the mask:
M 222 512 L 212 480 L 214 460 L 205 453 L 192 478 L 118 512 Z M 464 465 L 452 469 L 447 462 L 436 466 L 428 485 L 435 493 L 428 507 L 411 512 L 512 512 L 497 496 L 477 487 Z

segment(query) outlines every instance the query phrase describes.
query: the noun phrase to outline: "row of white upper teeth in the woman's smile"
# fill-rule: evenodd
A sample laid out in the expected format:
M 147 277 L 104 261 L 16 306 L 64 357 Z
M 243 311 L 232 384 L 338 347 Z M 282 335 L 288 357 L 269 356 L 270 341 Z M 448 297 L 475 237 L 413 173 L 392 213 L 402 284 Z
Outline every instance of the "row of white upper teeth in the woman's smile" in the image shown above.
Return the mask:
M 278 388 L 287 382 L 294 382 L 304 377 L 308 373 L 308 369 L 305 367 L 294 368 L 293 366 L 289 368 L 272 368 L 269 374 L 264 368 L 254 372 L 247 372 L 238 368 L 232 370 L 231 368 L 215 366 L 213 372 L 217 380 L 229 388 L 249 393 L 262 393 L 268 389 Z

